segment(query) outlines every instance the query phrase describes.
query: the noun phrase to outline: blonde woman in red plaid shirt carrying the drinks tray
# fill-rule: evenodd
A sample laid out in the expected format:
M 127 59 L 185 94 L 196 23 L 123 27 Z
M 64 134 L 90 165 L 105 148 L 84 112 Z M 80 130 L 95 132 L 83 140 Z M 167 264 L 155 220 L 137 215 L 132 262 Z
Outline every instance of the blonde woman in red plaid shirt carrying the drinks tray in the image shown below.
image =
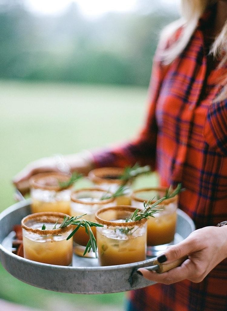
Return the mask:
M 149 111 L 138 139 L 114 150 L 41 159 L 14 183 L 40 171 L 88 172 L 139 162 L 157 169 L 162 186 L 181 182 L 179 207 L 197 230 L 159 256 L 177 268 L 138 270 L 158 284 L 130 292 L 130 311 L 227 310 L 227 1 L 182 0 L 182 18 L 164 30 L 154 58 Z M 63 165 L 63 166 L 64 166 Z M 225 224 L 225 223 L 224 223 Z M 142 277 L 141 276 L 141 277 Z

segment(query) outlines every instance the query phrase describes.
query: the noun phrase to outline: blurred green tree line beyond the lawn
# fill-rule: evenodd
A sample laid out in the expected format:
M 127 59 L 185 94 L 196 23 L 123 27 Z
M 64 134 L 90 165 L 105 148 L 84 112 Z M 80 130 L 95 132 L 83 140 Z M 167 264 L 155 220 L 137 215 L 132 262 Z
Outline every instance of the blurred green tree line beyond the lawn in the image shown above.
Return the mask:
M 141 0 L 140 0 L 141 1 Z M 0 78 L 148 86 L 163 26 L 178 12 L 149 1 L 137 12 L 95 19 L 71 3 L 61 15 L 37 15 L 21 0 L 0 2 Z

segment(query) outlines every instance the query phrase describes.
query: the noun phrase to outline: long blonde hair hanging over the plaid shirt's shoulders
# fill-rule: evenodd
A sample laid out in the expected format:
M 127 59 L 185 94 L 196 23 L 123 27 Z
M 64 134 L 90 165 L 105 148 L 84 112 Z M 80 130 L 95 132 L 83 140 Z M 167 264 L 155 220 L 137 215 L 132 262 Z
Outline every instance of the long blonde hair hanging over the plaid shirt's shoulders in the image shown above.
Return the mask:
M 199 18 L 203 15 L 207 7 L 216 2 L 217 0 L 181 0 L 181 17 L 165 27 L 160 36 L 160 45 L 164 45 L 166 44 L 167 39 L 169 39 L 177 29 L 182 29 L 179 38 L 175 42 L 170 42 L 169 47 L 162 51 L 161 59 L 164 64 L 170 64 L 178 55 L 180 55 L 193 35 L 198 25 Z M 214 55 L 214 58 L 218 58 L 222 56 L 223 51 L 227 51 L 227 21 L 221 32 L 216 36 L 211 46 L 210 53 Z M 222 58 L 220 66 L 226 63 L 226 61 L 227 53 L 225 53 L 225 56 Z M 223 100 L 226 97 L 227 86 L 224 87 L 216 100 Z

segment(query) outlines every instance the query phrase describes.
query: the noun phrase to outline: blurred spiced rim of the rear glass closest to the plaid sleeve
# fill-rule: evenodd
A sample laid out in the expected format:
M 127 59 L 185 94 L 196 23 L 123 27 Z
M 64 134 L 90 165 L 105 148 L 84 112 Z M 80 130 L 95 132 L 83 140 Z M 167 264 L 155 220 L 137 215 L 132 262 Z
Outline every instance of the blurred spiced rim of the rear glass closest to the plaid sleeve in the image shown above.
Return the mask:
M 102 183 L 118 183 L 119 185 L 122 184 L 123 180 L 121 179 L 110 179 L 105 178 L 108 174 L 119 176 L 122 175 L 124 169 L 121 167 L 98 167 L 96 169 L 92 169 L 88 173 L 88 178 L 93 181 L 94 183 L 102 184 Z

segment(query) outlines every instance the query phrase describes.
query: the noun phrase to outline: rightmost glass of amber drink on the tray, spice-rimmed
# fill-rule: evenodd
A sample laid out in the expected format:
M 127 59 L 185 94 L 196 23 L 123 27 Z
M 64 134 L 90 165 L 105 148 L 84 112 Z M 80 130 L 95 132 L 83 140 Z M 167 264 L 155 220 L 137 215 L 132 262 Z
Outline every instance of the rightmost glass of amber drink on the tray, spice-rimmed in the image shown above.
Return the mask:
M 143 203 L 149 199 L 158 199 L 165 196 L 166 188 L 144 188 L 133 191 L 131 195 L 131 205 L 139 209 L 144 209 Z M 178 195 L 168 198 L 160 203 L 158 213 L 154 217 L 149 217 L 147 221 L 147 255 L 156 257 L 162 253 L 168 245 L 174 244 L 176 232 Z

